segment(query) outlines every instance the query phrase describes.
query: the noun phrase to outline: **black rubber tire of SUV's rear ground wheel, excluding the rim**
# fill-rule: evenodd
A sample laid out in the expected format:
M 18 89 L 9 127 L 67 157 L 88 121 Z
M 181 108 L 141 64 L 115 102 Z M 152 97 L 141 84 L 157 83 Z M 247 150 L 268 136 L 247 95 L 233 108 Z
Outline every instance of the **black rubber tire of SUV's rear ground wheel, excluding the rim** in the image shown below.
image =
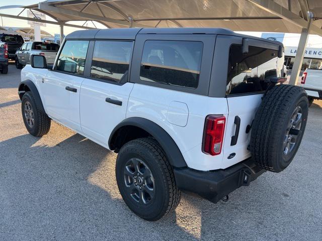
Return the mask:
M 136 202 L 125 185 L 124 169 L 128 160 L 138 158 L 150 169 L 155 194 L 148 204 Z M 125 144 L 116 160 L 116 180 L 126 205 L 139 217 L 156 221 L 167 215 L 180 202 L 181 192 L 176 186 L 173 167 L 169 164 L 163 149 L 153 138 L 140 138 Z

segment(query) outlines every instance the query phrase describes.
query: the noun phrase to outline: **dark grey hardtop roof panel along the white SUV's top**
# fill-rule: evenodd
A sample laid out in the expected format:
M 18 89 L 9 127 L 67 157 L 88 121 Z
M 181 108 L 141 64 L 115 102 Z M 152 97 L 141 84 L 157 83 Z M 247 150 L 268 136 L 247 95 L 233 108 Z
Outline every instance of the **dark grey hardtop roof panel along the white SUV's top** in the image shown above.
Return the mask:
M 78 30 L 66 36 L 66 39 L 124 39 L 135 40 L 137 34 L 217 34 L 232 35 L 242 38 L 256 39 L 278 45 L 281 42 L 268 39 L 237 34 L 229 29 L 222 28 L 120 28 L 120 29 L 91 29 Z

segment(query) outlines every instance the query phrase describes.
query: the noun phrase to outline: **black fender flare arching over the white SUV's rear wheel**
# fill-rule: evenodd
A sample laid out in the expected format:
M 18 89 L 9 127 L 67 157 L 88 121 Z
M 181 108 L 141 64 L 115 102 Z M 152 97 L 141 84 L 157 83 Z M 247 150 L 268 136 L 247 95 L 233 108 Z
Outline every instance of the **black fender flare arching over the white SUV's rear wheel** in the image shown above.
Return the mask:
M 112 150 L 114 150 L 112 143 L 114 134 L 116 134 L 121 127 L 125 126 L 138 127 L 149 133 L 163 148 L 170 165 L 173 167 L 187 167 L 187 163 L 172 137 L 162 127 L 142 117 L 126 118 L 113 129 L 109 138 L 109 147 L 112 148 Z

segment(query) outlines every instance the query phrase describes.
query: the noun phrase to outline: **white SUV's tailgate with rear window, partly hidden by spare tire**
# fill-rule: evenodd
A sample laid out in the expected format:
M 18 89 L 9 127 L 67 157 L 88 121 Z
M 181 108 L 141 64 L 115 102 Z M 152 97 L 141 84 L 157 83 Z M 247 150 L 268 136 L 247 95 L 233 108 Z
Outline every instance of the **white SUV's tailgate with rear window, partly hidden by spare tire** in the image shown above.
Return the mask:
M 229 114 L 226 122 L 224 158 L 222 168 L 231 166 L 251 156 L 248 151 L 251 126 L 269 80 L 283 75 L 284 58 L 278 58 L 278 45 L 249 39 L 249 52 L 242 53 L 242 39 L 217 37 L 228 45 L 228 70 L 226 97 Z M 223 46 L 221 46 L 222 48 Z M 216 52 L 215 52 L 216 54 Z

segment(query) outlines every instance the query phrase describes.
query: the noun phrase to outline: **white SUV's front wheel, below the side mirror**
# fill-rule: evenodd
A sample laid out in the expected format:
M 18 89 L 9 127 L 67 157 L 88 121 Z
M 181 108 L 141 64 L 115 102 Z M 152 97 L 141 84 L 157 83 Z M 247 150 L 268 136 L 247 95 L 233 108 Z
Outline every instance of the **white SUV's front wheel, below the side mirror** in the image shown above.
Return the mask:
M 31 135 L 41 137 L 49 132 L 51 120 L 46 113 L 39 111 L 31 92 L 23 95 L 21 111 L 25 127 Z

